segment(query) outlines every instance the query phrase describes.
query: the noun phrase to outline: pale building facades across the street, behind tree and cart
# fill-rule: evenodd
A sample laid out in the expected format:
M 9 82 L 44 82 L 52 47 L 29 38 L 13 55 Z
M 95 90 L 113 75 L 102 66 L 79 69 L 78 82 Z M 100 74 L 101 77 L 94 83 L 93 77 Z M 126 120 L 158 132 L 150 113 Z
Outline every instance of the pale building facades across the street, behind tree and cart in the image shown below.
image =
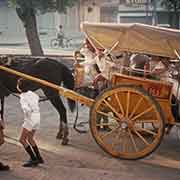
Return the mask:
M 14 39 L 24 41 L 24 27 L 15 10 L 8 7 L 6 0 L 0 0 L 0 41 Z M 40 39 L 47 41 L 56 35 L 62 25 L 68 36 L 80 34 L 80 23 L 89 22 L 140 22 L 148 24 L 169 24 L 168 11 L 150 0 L 80 0 L 66 14 L 46 13 L 37 16 Z

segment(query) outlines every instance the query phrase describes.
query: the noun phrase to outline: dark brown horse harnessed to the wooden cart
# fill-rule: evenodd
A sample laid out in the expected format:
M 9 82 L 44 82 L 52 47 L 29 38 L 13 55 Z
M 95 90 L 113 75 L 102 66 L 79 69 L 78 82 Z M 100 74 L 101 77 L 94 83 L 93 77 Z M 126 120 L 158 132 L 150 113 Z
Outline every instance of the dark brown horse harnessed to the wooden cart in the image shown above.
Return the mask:
M 74 77 L 72 71 L 63 63 L 50 58 L 32 58 L 28 60 L 13 59 L 10 57 L 1 57 L 0 65 L 14 69 L 19 72 L 34 76 L 39 79 L 46 80 L 56 85 L 61 85 L 73 90 Z M 0 99 L 1 99 L 1 118 L 4 114 L 4 98 L 12 93 L 18 93 L 16 88 L 18 79 L 17 75 L 10 74 L 0 70 Z M 59 113 L 59 131 L 56 138 L 62 139 L 62 144 L 68 143 L 68 125 L 66 108 L 60 98 L 57 90 L 35 83 L 33 81 L 23 79 L 21 86 L 23 89 L 36 91 L 42 89 L 47 99 L 55 107 Z M 75 109 L 75 101 L 67 99 L 71 112 Z

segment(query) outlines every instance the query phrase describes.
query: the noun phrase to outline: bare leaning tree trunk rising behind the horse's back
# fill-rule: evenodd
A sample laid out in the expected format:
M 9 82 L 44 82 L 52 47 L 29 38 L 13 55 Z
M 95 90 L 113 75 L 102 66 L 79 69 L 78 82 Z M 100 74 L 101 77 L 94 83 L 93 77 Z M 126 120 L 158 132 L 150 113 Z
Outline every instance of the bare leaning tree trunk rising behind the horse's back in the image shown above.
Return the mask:
M 29 43 L 31 54 L 34 56 L 42 56 L 43 50 L 41 47 L 40 39 L 38 36 L 36 16 L 34 10 L 28 9 L 16 9 L 19 18 L 24 23 L 26 37 Z

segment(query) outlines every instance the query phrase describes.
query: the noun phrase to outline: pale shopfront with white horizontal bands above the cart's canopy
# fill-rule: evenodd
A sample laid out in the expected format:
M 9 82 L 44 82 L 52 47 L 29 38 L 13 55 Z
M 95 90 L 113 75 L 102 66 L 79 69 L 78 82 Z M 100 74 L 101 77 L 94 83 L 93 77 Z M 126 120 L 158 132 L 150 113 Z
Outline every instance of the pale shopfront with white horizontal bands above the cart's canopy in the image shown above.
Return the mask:
M 120 1 L 117 22 L 140 22 L 146 24 L 169 24 L 168 11 L 161 1 L 123 0 Z

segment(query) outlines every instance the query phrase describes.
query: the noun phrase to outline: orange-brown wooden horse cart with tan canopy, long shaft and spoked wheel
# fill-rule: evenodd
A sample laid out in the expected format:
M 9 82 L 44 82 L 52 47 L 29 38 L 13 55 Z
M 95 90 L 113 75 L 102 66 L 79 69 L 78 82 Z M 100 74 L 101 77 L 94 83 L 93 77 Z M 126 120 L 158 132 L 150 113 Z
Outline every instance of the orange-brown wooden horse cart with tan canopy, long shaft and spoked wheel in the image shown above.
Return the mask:
M 93 47 L 106 49 L 109 54 L 131 52 L 177 59 L 180 52 L 178 30 L 101 23 L 83 23 L 82 30 Z M 143 158 L 156 150 L 167 129 L 178 125 L 172 114 L 170 82 L 112 72 L 109 87 L 92 99 L 4 66 L 0 70 L 53 88 L 60 95 L 90 107 L 92 136 L 113 157 Z

